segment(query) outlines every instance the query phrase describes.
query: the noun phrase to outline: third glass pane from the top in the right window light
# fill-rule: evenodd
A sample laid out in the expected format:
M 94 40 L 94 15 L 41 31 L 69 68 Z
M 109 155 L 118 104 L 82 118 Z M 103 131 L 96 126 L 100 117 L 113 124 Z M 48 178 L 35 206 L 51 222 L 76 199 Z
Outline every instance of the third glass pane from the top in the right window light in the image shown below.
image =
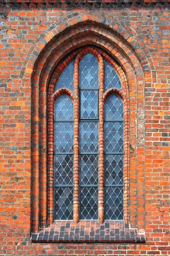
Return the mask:
M 105 185 L 123 184 L 123 155 L 105 155 Z

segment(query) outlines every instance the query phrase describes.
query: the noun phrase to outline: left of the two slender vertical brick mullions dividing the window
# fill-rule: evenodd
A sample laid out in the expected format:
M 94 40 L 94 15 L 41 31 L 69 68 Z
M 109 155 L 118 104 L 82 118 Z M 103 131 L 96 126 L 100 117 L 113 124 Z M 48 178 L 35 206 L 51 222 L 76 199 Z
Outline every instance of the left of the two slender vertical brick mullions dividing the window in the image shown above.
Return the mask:
M 74 197 L 73 219 L 79 221 L 79 59 L 74 61 Z

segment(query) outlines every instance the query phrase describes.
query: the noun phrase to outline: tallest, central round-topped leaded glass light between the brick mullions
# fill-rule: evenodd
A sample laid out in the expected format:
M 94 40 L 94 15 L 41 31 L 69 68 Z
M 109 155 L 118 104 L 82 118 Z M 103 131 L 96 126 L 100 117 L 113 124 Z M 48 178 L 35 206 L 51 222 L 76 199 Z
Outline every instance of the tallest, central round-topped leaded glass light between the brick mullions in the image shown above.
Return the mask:
M 98 219 L 99 64 L 91 53 L 79 65 L 79 219 Z

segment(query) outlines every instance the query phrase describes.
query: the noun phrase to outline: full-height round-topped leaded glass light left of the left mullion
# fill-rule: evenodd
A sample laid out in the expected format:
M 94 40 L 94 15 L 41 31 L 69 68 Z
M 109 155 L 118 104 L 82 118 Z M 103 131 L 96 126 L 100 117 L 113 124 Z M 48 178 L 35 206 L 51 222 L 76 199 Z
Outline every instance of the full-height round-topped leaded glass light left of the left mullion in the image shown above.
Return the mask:
M 54 220 L 73 219 L 73 102 L 63 94 L 54 105 Z

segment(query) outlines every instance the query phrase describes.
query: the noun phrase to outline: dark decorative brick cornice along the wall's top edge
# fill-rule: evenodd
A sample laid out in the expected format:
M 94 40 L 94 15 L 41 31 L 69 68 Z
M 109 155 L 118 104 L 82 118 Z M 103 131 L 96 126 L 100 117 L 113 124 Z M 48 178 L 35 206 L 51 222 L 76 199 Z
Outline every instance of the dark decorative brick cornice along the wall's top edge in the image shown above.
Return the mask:
M 6 8 L 37 8 L 37 9 L 46 9 L 46 8 L 166 8 L 170 7 L 170 1 L 161 0 L 155 2 L 154 0 L 2 0 L 0 3 L 1 7 Z

